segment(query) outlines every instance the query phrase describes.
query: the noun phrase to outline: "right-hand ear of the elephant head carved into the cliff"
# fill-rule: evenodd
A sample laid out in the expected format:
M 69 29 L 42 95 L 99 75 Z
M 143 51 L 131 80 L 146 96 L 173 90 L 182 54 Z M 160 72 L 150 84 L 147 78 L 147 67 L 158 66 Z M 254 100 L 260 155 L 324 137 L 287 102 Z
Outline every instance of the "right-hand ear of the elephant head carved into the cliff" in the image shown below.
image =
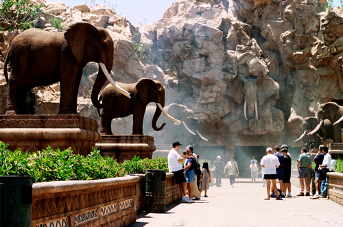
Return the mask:
M 268 100 L 277 99 L 279 97 L 280 86 L 270 77 L 263 77 L 257 82 L 258 92 L 257 100 L 259 104 L 264 104 Z

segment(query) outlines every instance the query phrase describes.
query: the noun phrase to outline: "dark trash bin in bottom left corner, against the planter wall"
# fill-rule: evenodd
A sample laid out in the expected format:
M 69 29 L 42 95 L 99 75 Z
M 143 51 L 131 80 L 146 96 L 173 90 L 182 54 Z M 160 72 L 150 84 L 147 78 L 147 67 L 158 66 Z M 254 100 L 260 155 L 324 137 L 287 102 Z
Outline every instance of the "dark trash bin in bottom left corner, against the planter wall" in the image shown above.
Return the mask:
M 0 176 L 0 226 L 31 227 L 31 176 Z

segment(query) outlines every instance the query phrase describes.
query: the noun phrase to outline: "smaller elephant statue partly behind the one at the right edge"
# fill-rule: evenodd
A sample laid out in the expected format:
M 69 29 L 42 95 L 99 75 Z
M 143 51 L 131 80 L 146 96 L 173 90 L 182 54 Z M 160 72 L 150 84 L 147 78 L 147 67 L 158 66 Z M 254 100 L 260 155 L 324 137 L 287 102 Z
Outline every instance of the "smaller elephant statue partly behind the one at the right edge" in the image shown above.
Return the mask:
M 334 139 L 333 127 L 328 119 L 324 119 L 322 126 L 320 126 L 316 134 L 307 135 L 307 132 L 311 132 L 318 126 L 318 119 L 316 117 L 305 117 L 301 125 L 303 134 L 294 142 L 302 140 L 306 147 L 314 143 L 312 148 L 319 148 L 319 145 L 326 139 Z

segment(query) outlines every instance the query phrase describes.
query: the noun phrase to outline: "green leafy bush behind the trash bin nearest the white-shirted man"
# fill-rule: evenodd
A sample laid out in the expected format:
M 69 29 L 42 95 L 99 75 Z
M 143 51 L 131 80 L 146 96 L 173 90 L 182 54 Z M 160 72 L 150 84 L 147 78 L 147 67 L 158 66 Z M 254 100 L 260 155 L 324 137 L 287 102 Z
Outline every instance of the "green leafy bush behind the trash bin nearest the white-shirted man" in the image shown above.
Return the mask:
M 132 160 L 125 160 L 123 165 L 128 174 L 145 174 L 147 169 L 164 169 L 166 172 L 168 171 L 168 160 L 161 157 L 140 159 L 139 156 L 135 156 Z

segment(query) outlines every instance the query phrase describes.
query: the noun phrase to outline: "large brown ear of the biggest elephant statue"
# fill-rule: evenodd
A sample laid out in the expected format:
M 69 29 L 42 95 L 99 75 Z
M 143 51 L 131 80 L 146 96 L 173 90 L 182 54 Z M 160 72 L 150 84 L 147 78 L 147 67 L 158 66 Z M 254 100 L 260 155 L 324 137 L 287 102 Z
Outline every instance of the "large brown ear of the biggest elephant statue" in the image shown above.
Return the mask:
M 99 34 L 98 29 L 86 22 L 72 23 L 67 27 L 64 38 L 67 40 L 71 52 L 73 53 L 73 56 L 75 56 L 78 64 L 80 64 L 84 58 L 86 41 L 91 35 L 97 36 L 97 34 Z

